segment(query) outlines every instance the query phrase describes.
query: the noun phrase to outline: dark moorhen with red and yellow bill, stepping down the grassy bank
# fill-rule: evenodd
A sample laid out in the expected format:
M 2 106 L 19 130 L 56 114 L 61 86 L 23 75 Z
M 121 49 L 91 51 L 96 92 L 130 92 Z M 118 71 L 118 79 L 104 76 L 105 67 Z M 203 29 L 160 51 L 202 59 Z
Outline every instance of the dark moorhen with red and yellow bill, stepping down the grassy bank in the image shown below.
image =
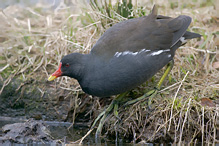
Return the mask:
M 107 115 L 114 110 L 118 116 L 119 100 L 168 64 L 156 89 L 161 87 L 172 69 L 176 49 L 188 39 L 201 36 L 186 31 L 191 20 L 185 15 L 177 18 L 157 15 L 154 6 L 148 16 L 113 25 L 100 37 L 89 54 L 64 56 L 58 70 L 48 80 L 69 76 L 78 80 L 82 90 L 90 95 L 108 97 L 120 94 L 94 121 L 92 129 L 102 117 L 96 132 L 99 135 Z M 126 104 L 154 96 L 156 89 Z

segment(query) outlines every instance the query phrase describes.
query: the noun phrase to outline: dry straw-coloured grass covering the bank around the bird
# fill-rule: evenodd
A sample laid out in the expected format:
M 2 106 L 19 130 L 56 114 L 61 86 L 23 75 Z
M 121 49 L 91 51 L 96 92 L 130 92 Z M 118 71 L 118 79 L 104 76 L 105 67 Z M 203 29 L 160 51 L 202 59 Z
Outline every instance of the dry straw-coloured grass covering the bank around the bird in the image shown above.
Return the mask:
M 189 30 L 203 37 L 201 40 L 191 40 L 178 49 L 169 82 L 165 81 L 163 87 L 166 88 L 160 92 L 162 96 L 154 99 L 152 109 L 142 103 L 127 107 L 119 112 L 122 122 L 112 118 L 105 129 L 113 135 L 119 131 L 120 136 L 134 141 L 218 142 L 219 30 L 216 1 L 155 3 L 159 6 L 159 14 L 191 16 L 193 22 Z M 142 1 L 135 9 L 142 6 L 148 14 L 152 5 Z M 137 12 L 134 11 L 135 17 L 139 15 Z M 46 80 L 64 55 L 72 52 L 88 53 L 106 28 L 126 19 L 116 11 L 112 11 L 112 14 L 114 17 L 110 18 L 106 12 L 101 13 L 85 4 L 78 4 L 74 11 L 67 7 L 44 10 L 42 6 L 10 6 L 2 10 L 0 95 L 14 79 L 21 82 L 18 90 L 32 80 L 38 81 L 36 88 L 42 96 L 54 93 L 62 96 L 64 91 L 66 100 L 73 98 L 71 106 L 74 119 L 77 112 L 84 108 L 84 102 L 90 102 L 87 104 L 93 106 L 85 110 L 87 115 L 93 115 L 93 120 L 98 114 L 97 109 L 103 109 L 106 105 L 102 104 L 104 99 L 89 96 L 83 101 L 85 97 L 78 96 L 84 95 L 78 83 L 68 77 L 59 78 L 56 83 L 50 84 Z M 152 88 L 162 73 L 160 71 L 153 80 L 134 90 L 134 95 L 142 94 L 149 90 L 148 87 Z M 202 98 L 210 98 L 215 106 L 202 106 Z

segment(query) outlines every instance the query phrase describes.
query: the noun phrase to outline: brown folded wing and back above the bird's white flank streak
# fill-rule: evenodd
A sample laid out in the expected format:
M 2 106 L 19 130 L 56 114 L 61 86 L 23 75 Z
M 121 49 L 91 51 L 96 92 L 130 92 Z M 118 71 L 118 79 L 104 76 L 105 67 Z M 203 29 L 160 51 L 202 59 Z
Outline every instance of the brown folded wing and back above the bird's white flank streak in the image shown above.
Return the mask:
M 190 23 L 189 16 L 182 15 L 175 19 L 157 16 L 154 6 L 148 16 L 129 19 L 109 28 L 91 53 L 106 59 L 116 52 L 169 49 L 183 36 Z

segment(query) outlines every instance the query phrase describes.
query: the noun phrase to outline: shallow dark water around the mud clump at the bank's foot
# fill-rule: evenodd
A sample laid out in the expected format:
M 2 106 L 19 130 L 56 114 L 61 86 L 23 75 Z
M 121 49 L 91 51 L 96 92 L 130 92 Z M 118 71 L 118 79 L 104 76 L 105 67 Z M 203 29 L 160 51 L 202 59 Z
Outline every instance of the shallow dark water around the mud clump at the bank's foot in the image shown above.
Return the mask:
M 10 117 L 0 117 L 0 127 L 3 127 L 6 124 L 13 124 L 13 123 L 23 123 L 25 120 L 24 118 L 10 118 Z M 69 122 L 57 122 L 57 121 L 45 121 L 45 124 L 48 125 L 48 129 L 51 132 L 51 136 L 55 140 L 60 140 L 62 143 L 56 142 L 31 142 L 27 144 L 18 144 L 10 141 L 6 141 L 4 143 L 0 143 L 0 145 L 13 145 L 13 146 L 24 146 L 24 145 L 62 145 L 69 142 L 74 142 L 80 138 L 82 138 L 86 132 L 88 131 L 88 127 L 81 123 L 75 124 L 73 127 Z M 0 129 L 0 136 L 3 135 L 2 129 Z M 131 143 L 124 142 L 124 140 L 120 139 L 117 142 L 112 139 L 102 138 L 101 140 L 95 140 L 93 134 L 89 135 L 84 141 L 84 145 L 123 145 L 129 146 L 133 145 Z

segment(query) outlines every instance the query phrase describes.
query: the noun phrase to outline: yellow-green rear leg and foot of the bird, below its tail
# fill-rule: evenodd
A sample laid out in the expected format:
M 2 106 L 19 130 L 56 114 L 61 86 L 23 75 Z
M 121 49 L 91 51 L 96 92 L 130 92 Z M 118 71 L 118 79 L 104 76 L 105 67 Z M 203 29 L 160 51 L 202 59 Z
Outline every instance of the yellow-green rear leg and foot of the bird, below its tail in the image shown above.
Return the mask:
M 161 87 L 163 81 L 165 80 L 165 78 L 167 77 L 167 75 L 168 75 L 168 74 L 170 73 L 170 71 L 172 70 L 173 64 L 174 64 L 174 61 L 173 61 L 173 60 L 170 61 L 170 62 L 167 64 L 167 69 L 165 70 L 163 76 L 160 78 L 160 81 L 158 82 L 158 84 L 157 84 L 157 86 L 155 87 L 154 90 L 151 90 L 151 91 L 145 93 L 144 95 L 142 95 L 142 96 L 140 96 L 140 97 L 138 97 L 138 98 L 136 98 L 136 99 L 134 99 L 134 100 L 131 100 L 131 101 L 126 102 L 126 103 L 124 104 L 124 106 L 130 105 L 130 104 L 134 104 L 134 103 L 136 103 L 136 102 L 138 102 L 138 101 L 141 101 L 141 100 L 143 100 L 143 99 L 145 99 L 145 98 L 147 98 L 147 97 L 149 97 L 148 105 L 150 106 L 153 97 L 158 93 L 158 91 L 160 90 L 160 87 Z

